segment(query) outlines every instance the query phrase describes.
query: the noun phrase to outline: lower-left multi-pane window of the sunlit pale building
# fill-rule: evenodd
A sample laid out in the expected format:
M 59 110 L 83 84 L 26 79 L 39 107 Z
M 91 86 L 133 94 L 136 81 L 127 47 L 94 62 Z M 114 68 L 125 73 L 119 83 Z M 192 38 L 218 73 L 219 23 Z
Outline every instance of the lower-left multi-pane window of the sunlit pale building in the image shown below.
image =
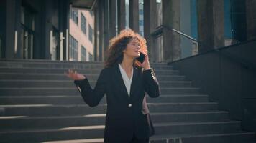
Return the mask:
M 71 61 L 78 60 L 78 41 L 73 36 L 69 36 L 69 59 Z

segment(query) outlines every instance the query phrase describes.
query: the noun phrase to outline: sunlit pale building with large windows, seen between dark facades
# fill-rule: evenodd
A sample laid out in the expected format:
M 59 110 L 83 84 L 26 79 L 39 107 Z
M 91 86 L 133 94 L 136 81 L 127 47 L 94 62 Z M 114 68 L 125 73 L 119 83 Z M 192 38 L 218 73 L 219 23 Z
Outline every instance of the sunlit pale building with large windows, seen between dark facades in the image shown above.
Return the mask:
M 69 29 L 69 60 L 93 61 L 93 12 L 71 8 Z

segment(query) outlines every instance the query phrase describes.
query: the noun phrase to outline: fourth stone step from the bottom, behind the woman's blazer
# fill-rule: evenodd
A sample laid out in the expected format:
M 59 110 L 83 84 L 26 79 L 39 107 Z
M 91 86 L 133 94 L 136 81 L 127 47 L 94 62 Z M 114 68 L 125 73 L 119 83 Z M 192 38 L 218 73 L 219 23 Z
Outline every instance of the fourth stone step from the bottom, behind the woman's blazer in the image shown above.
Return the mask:
M 207 112 L 216 111 L 218 103 L 148 103 L 150 112 Z M 86 104 L 19 104 L 0 105 L 0 116 L 70 116 L 106 113 L 106 104 L 88 107 Z

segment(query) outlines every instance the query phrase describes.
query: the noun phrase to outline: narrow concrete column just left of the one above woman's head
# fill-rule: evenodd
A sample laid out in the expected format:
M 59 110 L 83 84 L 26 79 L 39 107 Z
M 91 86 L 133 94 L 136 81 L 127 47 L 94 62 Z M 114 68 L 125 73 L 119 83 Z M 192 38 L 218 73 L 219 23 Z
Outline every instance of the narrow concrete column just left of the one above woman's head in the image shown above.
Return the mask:
M 117 1 L 117 9 L 118 9 L 118 33 L 125 29 L 125 0 Z

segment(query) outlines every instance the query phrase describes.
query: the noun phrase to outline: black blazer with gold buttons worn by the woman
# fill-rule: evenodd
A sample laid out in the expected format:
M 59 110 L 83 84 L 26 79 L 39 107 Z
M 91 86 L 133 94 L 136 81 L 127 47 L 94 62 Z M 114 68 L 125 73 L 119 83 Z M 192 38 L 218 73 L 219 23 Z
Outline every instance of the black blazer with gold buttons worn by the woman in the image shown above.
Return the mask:
M 138 139 L 149 138 L 147 117 L 142 114 L 145 92 L 150 97 L 159 97 L 160 88 L 152 69 L 141 71 L 134 67 L 130 97 L 122 79 L 118 64 L 101 70 L 94 89 L 88 79 L 74 81 L 83 100 L 95 107 L 106 94 L 106 122 L 104 142 L 125 143 L 133 135 Z

